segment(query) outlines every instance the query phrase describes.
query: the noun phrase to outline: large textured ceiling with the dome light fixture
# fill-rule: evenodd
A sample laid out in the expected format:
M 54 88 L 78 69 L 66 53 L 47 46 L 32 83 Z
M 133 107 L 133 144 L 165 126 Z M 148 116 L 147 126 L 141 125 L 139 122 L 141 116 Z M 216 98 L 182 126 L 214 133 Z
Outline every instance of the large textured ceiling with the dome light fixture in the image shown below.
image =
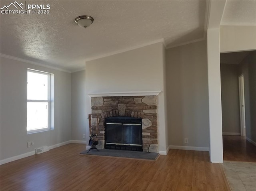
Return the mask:
M 70 71 L 85 60 L 158 39 L 167 46 L 204 37 L 205 1 L 18 1 L 49 14 L 1 14 L 1 53 Z M 1 1 L 1 7 L 10 1 Z M 74 19 L 89 15 L 80 28 Z

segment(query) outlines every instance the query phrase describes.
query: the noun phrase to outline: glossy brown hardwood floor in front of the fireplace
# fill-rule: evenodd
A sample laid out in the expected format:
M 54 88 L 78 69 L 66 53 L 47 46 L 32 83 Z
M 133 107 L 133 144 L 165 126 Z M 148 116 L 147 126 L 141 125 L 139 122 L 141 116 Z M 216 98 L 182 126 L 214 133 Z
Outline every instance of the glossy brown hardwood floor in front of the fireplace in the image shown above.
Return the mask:
M 208 152 L 170 150 L 157 161 L 80 156 L 68 144 L 0 166 L 1 191 L 227 191 Z

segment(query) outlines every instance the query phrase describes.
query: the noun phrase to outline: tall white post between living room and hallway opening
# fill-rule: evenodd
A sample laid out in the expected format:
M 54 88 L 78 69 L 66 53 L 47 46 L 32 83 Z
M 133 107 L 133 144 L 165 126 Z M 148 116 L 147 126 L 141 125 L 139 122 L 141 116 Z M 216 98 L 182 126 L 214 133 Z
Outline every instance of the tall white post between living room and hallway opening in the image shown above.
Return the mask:
M 210 160 L 223 163 L 219 28 L 207 30 Z

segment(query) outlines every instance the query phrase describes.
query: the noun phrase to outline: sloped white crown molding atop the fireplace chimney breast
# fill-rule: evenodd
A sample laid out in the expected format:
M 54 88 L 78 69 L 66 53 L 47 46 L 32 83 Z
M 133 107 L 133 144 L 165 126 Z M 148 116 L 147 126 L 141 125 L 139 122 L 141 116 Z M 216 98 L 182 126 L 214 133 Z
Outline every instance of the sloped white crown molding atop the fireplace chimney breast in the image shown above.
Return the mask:
M 150 41 L 148 43 L 144 43 L 144 44 L 141 44 L 141 45 L 138 45 L 138 46 L 134 46 L 134 47 L 126 48 L 126 49 L 121 49 L 119 51 L 114 51 L 114 52 L 106 53 L 106 54 L 103 54 L 103 55 L 91 57 L 91 58 L 86 59 L 85 61 L 87 62 L 87 61 L 96 60 L 96 59 L 99 59 L 99 58 L 104 58 L 104 57 L 107 57 L 107 56 L 112 56 L 112 55 L 115 55 L 115 54 L 119 54 L 119 53 L 127 52 L 127 51 L 130 51 L 130 50 L 142 48 L 144 46 L 156 44 L 156 43 L 159 43 L 159 42 L 162 42 L 164 47 L 166 47 L 166 43 L 165 43 L 164 39 L 162 38 L 162 39 L 158 39 L 158 40 L 155 40 L 155 41 Z

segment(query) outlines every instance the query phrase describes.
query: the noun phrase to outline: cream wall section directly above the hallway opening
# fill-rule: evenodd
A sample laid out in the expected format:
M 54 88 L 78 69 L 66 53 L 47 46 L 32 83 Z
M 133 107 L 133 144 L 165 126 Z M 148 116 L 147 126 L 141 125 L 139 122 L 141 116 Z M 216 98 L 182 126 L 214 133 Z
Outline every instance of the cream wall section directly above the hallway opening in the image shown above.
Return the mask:
M 220 52 L 256 49 L 256 26 L 220 26 Z

